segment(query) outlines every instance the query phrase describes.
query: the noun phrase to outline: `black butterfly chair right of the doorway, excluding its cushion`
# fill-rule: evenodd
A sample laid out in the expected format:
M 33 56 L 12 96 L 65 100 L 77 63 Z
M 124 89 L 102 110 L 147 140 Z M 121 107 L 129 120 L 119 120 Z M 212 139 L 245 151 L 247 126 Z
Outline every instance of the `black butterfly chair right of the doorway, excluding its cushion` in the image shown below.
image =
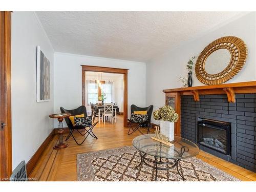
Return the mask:
M 139 131 L 142 135 L 143 133 L 139 130 L 139 128 L 146 128 L 147 129 L 147 134 L 150 132 L 150 127 L 151 127 L 151 115 L 153 112 L 153 105 L 150 105 L 146 108 L 140 108 L 139 106 L 136 106 L 135 104 L 131 105 L 131 117 L 134 115 L 134 112 L 136 111 L 147 111 L 147 119 L 143 121 L 135 121 L 133 118 L 127 119 L 128 120 L 128 125 L 130 127 L 128 135 L 131 135 L 135 131 Z

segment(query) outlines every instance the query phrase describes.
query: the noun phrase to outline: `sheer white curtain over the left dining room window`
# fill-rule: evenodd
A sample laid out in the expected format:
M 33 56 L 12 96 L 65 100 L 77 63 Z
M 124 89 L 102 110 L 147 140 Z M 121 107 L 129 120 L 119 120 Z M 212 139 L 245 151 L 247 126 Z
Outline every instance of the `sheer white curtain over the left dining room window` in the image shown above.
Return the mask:
M 86 105 L 98 101 L 98 84 L 95 80 L 86 80 Z

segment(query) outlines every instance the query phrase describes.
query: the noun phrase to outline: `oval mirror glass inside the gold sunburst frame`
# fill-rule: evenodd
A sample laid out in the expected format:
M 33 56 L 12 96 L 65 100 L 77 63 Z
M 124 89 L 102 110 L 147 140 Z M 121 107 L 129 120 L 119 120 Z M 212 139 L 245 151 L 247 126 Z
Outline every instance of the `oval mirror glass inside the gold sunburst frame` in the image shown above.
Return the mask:
M 228 66 L 230 59 L 231 54 L 227 49 L 218 49 L 207 57 L 204 69 L 208 74 L 220 73 Z

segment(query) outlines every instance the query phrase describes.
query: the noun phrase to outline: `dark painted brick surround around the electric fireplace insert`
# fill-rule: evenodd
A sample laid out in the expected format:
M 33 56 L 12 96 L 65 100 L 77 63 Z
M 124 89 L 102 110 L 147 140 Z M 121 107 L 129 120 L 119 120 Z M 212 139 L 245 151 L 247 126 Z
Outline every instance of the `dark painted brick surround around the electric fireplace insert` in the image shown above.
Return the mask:
M 256 94 L 181 95 L 181 135 L 197 143 L 197 120 L 207 118 L 231 123 L 231 154 L 224 155 L 199 145 L 200 149 L 256 172 Z

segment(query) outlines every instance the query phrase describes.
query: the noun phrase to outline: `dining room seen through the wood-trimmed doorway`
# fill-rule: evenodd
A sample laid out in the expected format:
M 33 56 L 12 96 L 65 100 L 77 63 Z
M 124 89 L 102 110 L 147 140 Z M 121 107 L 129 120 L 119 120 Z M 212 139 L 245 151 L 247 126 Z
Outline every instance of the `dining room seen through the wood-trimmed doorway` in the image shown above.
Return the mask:
M 86 71 L 85 103 L 93 121 L 116 123 L 122 121 L 124 80 L 123 74 Z

